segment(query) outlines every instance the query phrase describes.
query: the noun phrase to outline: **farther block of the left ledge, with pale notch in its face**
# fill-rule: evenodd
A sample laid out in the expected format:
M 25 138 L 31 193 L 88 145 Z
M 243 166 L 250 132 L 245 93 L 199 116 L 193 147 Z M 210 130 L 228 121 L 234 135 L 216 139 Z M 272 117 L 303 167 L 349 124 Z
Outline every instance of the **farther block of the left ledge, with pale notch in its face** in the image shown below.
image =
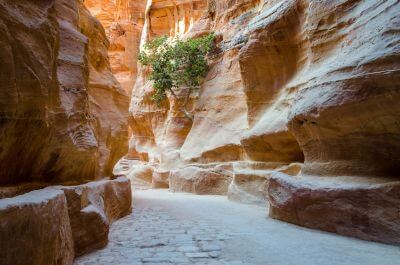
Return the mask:
M 60 189 L 68 202 L 76 256 L 107 245 L 111 223 L 131 212 L 131 185 L 124 177 Z

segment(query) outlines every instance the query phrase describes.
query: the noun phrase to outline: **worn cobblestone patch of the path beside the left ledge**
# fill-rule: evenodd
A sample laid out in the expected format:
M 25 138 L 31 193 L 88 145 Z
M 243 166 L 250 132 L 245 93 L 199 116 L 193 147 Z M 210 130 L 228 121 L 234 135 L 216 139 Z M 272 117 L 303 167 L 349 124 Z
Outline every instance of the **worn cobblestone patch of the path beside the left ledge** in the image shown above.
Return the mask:
M 106 248 L 78 258 L 75 265 L 248 265 L 222 257 L 225 241 L 240 236 L 224 230 L 216 224 L 176 219 L 158 207 L 134 208 L 112 225 Z

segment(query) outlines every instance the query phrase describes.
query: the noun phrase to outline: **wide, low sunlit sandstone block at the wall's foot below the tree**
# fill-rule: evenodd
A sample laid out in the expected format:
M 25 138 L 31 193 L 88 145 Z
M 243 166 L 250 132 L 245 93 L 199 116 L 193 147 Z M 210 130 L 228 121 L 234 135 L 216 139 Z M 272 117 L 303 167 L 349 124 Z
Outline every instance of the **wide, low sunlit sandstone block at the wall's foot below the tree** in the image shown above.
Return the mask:
M 191 165 L 171 171 L 169 188 L 174 192 L 226 195 L 231 181 L 231 165 Z

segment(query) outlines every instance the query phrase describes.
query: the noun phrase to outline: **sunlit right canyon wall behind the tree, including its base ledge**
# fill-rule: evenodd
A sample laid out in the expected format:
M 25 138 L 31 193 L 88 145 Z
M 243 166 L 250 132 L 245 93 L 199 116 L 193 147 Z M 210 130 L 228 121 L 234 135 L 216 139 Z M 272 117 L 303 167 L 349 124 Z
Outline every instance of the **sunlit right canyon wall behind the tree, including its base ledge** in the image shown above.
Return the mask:
M 216 35 L 210 71 L 157 107 L 132 91 L 141 183 L 270 205 L 295 224 L 400 244 L 398 1 L 149 2 L 142 40 Z

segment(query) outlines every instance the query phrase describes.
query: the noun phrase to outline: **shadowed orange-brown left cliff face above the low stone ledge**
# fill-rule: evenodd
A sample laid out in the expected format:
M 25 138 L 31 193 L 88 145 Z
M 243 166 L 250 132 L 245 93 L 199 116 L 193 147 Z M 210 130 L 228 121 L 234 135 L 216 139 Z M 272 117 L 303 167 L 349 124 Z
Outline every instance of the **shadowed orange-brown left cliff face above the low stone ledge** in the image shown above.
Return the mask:
M 125 153 L 127 96 L 81 1 L 0 1 L 0 184 L 102 177 Z

